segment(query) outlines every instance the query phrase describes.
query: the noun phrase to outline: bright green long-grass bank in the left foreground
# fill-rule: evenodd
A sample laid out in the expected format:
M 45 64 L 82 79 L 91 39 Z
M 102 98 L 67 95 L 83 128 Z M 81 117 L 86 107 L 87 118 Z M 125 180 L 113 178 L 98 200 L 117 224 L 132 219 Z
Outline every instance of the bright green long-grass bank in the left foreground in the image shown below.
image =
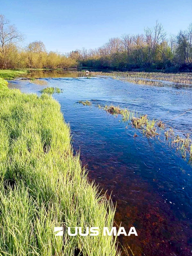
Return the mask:
M 113 236 L 101 232 L 114 209 L 73 156 L 57 101 L 1 90 L 0 141 L 0 255 L 116 255 Z M 55 236 L 61 226 L 64 236 Z M 68 236 L 66 227 L 100 234 Z

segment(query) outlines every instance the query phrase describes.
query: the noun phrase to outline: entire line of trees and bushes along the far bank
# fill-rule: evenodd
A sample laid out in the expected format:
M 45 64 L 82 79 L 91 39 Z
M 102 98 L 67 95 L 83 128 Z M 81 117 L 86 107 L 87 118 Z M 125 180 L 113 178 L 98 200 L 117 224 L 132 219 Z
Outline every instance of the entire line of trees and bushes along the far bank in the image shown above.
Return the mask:
M 77 66 L 192 71 L 192 23 L 177 35 L 167 35 L 161 23 L 139 35 L 110 38 L 97 49 L 68 54 L 47 52 L 41 41 L 20 47 L 23 35 L 0 15 L 0 68 L 70 68 Z

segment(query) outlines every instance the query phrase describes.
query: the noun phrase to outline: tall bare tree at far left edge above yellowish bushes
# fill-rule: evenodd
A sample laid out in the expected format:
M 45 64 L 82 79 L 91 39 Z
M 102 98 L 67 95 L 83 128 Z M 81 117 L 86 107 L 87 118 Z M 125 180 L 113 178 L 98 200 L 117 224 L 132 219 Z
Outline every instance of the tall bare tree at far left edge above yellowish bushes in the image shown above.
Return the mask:
M 9 54 L 12 48 L 16 48 L 23 39 L 23 35 L 4 15 L 0 15 L 0 53 L 3 62 L 3 68 L 7 68 Z

